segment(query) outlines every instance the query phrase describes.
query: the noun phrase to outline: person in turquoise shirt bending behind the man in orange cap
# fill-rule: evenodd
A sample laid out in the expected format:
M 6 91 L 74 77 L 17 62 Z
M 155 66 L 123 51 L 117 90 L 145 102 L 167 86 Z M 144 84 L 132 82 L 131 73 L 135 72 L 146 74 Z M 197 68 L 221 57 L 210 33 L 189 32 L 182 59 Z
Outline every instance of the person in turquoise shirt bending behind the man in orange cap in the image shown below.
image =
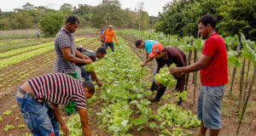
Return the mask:
M 146 40 L 146 41 L 136 40 L 134 43 L 136 45 L 136 48 L 139 48 L 139 49 L 143 48 L 146 51 L 144 62 L 143 62 L 143 64 L 141 66 L 147 65 L 148 62 L 150 62 L 151 60 L 154 59 L 154 57 L 153 58 L 149 57 L 148 54 L 151 53 L 152 46 L 155 43 L 158 43 L 157 41 L 154 41 L 154 40 Z M 157 70 L 157 62 L 155 60 L 155 67 L 154 67 L 154 73 L 153 73 L 153 82 L 152 82 L 152 85 L 151 85 L 151 88 L 150 88 L 150 90 L 152 92 L 154 92 L 154 90 L 157 89 L 157 86 L 156 86 L 156 84 L 154 82 L 154 76 L 156 74 L 156 70 Z

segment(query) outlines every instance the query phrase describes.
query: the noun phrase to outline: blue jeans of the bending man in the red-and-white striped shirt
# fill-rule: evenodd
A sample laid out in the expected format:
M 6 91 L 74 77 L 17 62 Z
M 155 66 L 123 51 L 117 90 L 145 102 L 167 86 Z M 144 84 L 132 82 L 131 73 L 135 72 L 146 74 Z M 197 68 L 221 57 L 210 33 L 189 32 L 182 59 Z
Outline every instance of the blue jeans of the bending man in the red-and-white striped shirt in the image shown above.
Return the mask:
M 47 102 L 38 103 L 27 96 L 27 93 L 23 96 L 19 92 L 16 93 L 15 99 L 33 136 L 60 136 L 59 122 Z

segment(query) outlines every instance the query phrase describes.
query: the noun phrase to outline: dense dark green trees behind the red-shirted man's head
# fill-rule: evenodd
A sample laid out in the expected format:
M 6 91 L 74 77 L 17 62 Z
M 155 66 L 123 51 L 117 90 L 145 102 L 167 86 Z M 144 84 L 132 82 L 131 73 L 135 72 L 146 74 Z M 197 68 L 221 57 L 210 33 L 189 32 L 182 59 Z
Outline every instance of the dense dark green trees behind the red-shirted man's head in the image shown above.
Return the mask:
M 173 0 L 159 14 L 156 31 L 165 34 L 197 37 L 197 22 L 204 14 L 218 21 L 216 30 L 224 37 L 244 33 L 256 40 L 255 0 Z

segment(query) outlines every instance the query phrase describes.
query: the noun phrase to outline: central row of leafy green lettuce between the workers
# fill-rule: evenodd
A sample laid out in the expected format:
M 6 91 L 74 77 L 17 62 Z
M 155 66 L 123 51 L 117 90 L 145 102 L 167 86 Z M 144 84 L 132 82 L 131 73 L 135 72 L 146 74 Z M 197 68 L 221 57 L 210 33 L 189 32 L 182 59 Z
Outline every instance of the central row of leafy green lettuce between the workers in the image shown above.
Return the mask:
M 143 128 L 152 129 L 160 135 L 190 135 L 183 128 L 200 125 L 191 111 L 166 104 L 159 109 L 158 115 L 153 114 L 149 107 L 151 102 L 147 99 L 152 94 L 148 89 L 150 82 L 145 82 L 152 75 L 148 75 L 147 68 L 140 66 L 142 62 L 126 45 L 119 37 L 119 46 L 115 46 L 115 52 L 108 50 L 104 59 L 90 67 L 104 81 L 98 96 L 88 99 L 89 107 L 96 99 L 103 101 L 101 111 L 96 113 L 100 127 L 108 129 L 111 135 L 132 135 L 134 130 L 141 131 Z M 79 121 L 78 115 L 70 117 L 67 122 L 74 136 L 82 133 L 76 121 Z

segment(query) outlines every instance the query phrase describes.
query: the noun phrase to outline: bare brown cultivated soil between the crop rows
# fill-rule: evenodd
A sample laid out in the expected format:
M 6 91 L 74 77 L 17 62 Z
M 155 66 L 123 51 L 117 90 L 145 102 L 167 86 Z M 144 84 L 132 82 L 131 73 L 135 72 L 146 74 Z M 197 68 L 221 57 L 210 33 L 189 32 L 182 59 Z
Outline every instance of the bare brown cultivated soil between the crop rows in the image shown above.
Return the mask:
M 92 35 L 79 35 L 79 37 L 95 37 Z M 131 46 L 131 50 L 137 54 L 139 56 L 139 58 L 143 61 L 143 52 L 139 52 L 137 48 L 135 48 L 134 44 L 132 43 L 134 41 L 133 39 L 127 39 L 127 41 L 129 42 L 129 45 Z M 91 43 L 90 43 L 91 44 Z M 83 45 L 84 46 L 84 45 Z M 96 46 L 90 46 L 90 49 L 96 49 L 97 47 L 99 47 L 100 44 L 98 42 L 96 42 Z M 52 53 L 55 54 L 55 53 Z M 34 63 L 34 65 L 40 64 L 42 63 L 41 61 L 33 61 L 33 59 L 29 59 L 26 60 L 27 61 L 32 61 Z M 22 65 L 21 62 L 19 65 Z M 51 61 L 48 65 L 45 65 L 44 67 L 40 67 L 38 68 L 38 70 L 35 73 L 32 73 L 29 77 L 26 77 L 26 79 L 22 79 L 20 82 L 17 82 L 15 84 L 13 84 L 11 87 L 6 86 L 5 88 L 1 89 L 1 93 L 0 93 L 0 116 L 3 117 L 3 121 L 0 122 L 0 136 L 5 136 L 5 135 L 9 135 L 9 134 L 13 134 L 14 136 L 22 136 L 25 133 L 30 133 L 29 130 L 27 129 L 27 127 L 23 127 L 23 128 L 18 128 L 18 125 L 20 124 L 25 124 L 22 116 L 20 115 L 20 110 L 18 107 L 15 108 L 11 108 L 11 106 L 16 105 L 15 102 L 15 92 L 16 89 L 26 80 L 32 78 L 32 77 L 36 77 L 39 75 L 43 75 L 46 73 L 50 73 L 52 72 L 52 68 L 54 65 L 54 61 Z M 150 71 L 148 71 L 148 74 L 152 74 L 154 71 L 154 61 L 148 63 L 148 68 L 150 69 Z M 10 71 L 11 69 L 9 69 Z M 7 71 L 7 70 L 4 70 Z M 2 71 L 0 71 L 0 74 L 2 73 Z M 185 110 L 190 110 L 193 113 L 196 113 L 196 105 L 197 105 L 197 98 L 198 98 L 198 94 L 199 94 L 199 89 L 200 87 L 198 86 L 196 88 L 196 97 L 195 97 L 195 103 L 193 100 L 193 93 L 194 93 L 194 88 L 195 85 L 192 83 L 192 73 L 190 73 L 190 77 L 189 77 L 189 86 L 188 86 L 188 99 L 185 100 L 183 102 L 183 109 Z M 199 73 L 198 73 L 199 75 Z M 152 82 L 152 78 L 148 78 L 146 79 L 146 82 Z M 199 77 L 198 77 L 198 81 Z M 253 86 L 255 87 L 255 85 Z M 226 93 L 224 95 L 224 100 L 223 100 L 223 110 L 222 110 L 222 129 L 219 133 L 219 136 L 235 136 L 236 135 L 236 128 L 238 126 L 237 123 L 237 118 L 238 116 L 236 115 L 236 102 L 238 101 L 238 94 L 239 94 L 239 80 L 237 78 L 237 80 L 235 81 L 235 86 L 234 86 L 234 97 L 230 98 L 227 96 L 227 91 L 230 88 L 230 83 L 226 85 Z M 146 90 L 149 91 L 149 90 Z M 4 92 L 4 93 L 3 93 Z M 100 90 L 97 90 L 98 92 L 98 96 L 100 96 Z M 173 88 L 168 88 L 166 90 L 166 94 L 164 95 L 168 95 L 168 94 L 172 94 L 173 93 Z M 177 103 L 177 100 L 174 99 L 174 97 L 172 97 L 172 99 L 161 99 L 159 103 L 154 103 L 149 105 L 150 108 L 152 108 L 153 114 L 156 115 L 157 114 L 157 110 L 161 105 L 167 104 L 167 103 Z M 92 130 L 92 134 L 93 135 L 98 135 L 98 136 L 110 136 L 111 133 L 108 133 L 108 129 L 106 127 L 100 128 L 101 124 L 98 123 L 98 119 L 96 116 L 96 112 L 100 112 L 101 111 L 101 107 L 102 107 L 102 99 L 100 99 L 98 97 L 98 99 L 96 99 L 96 102 L 94 102 L 91 105 L 88 105 L 88 109 L 89 109 L 89 119 L 90 119 L 90 127 Z M 10 110 L 12 111 L 12 114 L 9 116 L 3 116 L 3 112 Z M 62 116 L 65 117 L 65 121 L 67 122 L 68 120 L 68 116 L 66 116 L 64 113 L 64 108 L 63 106 L 61 106 L 61 113 Z M 15 120 L 16 116 L 20 117 L 20 119 L 18 121 Z M 250 101 L 249 104 L 247 105 L 247 114 L 241 124 L 241 128 L 240 128 L 240 136 L 253 136 L 256 133 L 256 92 L 255 90 L 253 90 L 251 97 L 250 97 Z M 156 121 L 152 121 L 150 120 L 149 122 L 156 122 Z M 159 124 L 159 122 L 156 122 L 157 124 Z M 15 129 L 13 130 L 9 130 L 9 132 L 4 132 L 3 128 L 7 125 L 7 124 L 12 124 L 15 126 Z M 191 131 L 193 134 L 192 135 L 196 135 L 196 133 L 199 132 L 200 127 L 196 127 L 196 128 L 189 128 L 186 130 Z M 160 132 L 158 132 L 157 130 L 151 129 L 149 127 L 145 127 L 143 128 L 142 131 L 137 132 L 137 127 L 130 130 L 129 133 L 136 135 L 136 136 L 154 136 L 154 135 L 159 135 Z

